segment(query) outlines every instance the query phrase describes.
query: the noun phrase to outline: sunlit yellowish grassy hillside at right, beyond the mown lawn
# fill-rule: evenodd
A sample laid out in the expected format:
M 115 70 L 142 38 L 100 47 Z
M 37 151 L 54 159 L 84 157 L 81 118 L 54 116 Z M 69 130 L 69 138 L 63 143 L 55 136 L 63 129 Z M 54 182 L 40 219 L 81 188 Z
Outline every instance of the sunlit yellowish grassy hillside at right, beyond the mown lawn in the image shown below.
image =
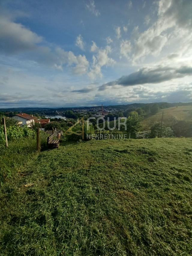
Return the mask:
M 162 112 L 163 125 L 171 126 L 175 120 L 192 121 L 192 106 L 169 107 L 160 110 L 157 114 L 152 116 L 145 116 L 141 122 L 144 130 L 149 130 L 154 123 L 161 123 Z

